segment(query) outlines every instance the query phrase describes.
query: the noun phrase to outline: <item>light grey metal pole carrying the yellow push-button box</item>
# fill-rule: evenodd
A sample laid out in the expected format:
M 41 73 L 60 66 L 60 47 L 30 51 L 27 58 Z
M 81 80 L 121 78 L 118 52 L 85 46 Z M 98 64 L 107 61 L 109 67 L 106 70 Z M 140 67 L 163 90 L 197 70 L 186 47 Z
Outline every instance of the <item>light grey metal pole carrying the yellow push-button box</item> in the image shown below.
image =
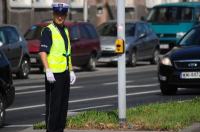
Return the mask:
M 117 0 L 117 32 L 118 39 L 125 42 L 125 0 Z M 125 47 L 125 45 L 124 45 Z M 126 52 L 118 56 L 118 109 L 119 124 L 126 123 Z

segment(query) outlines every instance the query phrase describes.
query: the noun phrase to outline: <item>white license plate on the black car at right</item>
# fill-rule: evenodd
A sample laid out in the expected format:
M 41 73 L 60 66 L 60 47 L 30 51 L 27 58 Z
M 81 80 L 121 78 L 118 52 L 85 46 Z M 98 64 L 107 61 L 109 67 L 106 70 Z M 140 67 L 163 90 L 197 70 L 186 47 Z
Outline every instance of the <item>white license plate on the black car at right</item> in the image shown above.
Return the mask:
M 200 72 L 182 72 L 180 75 L 182 79 L 199 79 Z

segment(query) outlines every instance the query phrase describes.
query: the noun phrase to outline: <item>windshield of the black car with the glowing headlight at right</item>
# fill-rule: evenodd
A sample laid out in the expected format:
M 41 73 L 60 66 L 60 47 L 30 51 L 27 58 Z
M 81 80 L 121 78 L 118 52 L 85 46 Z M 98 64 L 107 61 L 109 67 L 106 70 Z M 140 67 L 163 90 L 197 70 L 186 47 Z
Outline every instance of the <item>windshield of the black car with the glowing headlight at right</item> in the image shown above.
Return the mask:
M 199 45 L 200 46 L 200 28 L 192 29 L 188 32 L 185 37 L 180 41 L 180 46 L 193 46 Z

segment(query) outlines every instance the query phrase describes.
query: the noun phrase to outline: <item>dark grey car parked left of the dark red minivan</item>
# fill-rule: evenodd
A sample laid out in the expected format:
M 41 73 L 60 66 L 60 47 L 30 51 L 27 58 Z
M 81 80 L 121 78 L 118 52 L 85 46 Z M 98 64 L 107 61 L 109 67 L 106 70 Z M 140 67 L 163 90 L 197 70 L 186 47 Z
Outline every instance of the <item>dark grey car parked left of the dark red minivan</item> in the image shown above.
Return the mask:
M 0 42 L 2 49 L 11 64 L 12 72 L 18 78 L 28 78 L 30 72 L 27 42 L 17 27 L 0 26 Z

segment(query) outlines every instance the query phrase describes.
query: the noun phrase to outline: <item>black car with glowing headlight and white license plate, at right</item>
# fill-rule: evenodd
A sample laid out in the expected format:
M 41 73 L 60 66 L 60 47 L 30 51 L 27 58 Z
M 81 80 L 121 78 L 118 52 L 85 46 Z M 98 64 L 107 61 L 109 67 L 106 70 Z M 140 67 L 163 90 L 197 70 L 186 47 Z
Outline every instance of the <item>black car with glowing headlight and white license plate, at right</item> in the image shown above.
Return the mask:
M 163 94 L 176 94 L 178 88 L 200 87 L 200 26 L 191 29 L 158 65 Z

